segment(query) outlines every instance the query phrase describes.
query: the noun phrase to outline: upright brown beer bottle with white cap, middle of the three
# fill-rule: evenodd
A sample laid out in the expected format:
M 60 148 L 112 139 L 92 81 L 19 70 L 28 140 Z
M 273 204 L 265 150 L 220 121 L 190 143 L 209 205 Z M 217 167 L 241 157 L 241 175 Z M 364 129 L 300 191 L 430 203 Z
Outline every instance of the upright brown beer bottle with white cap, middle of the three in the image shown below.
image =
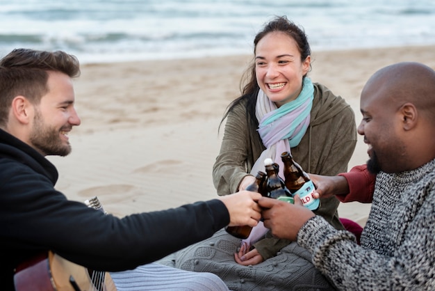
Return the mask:
M 275 164 L 272 159 L 268 158 L 264 160 L 264 166 L 266 173 L 268 174 L 268 180 L 266 182 L 268 197 L 288 201 L 292 195 L 290 191 L 288 191 L 284 180 L 282 180 L 278 175 L 279 165 Z M 288 202 L 292 203 L 293 200 L 290 199 Z

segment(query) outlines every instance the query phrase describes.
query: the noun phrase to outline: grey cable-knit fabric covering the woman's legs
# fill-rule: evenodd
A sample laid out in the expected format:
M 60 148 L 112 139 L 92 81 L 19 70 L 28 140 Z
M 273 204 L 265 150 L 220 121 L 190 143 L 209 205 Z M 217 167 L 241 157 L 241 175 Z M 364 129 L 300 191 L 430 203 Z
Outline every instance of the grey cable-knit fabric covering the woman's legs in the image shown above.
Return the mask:
M 243 266 L 234 260 L 240 239 L 219 230 L 213 237 L 172 253 L 157 262 L 220 276 L 230 290 L 335 290 L 311 263 L 306 249 L 292 242 L 273 258 Z

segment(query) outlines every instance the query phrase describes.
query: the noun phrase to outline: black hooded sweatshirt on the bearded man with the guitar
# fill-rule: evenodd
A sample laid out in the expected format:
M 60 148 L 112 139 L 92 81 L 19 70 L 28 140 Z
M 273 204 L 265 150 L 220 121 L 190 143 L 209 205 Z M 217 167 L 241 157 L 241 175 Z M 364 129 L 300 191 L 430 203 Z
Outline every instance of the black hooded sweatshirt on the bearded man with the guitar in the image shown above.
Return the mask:
M 54 188 L 57 180 L 51 162 L 0 129 L 2 290 L 14 290 L 15 267 L 40 253 L 116 272 L 163 258 L 229 223 L 220 200 L 117 218 L 67 200 Z

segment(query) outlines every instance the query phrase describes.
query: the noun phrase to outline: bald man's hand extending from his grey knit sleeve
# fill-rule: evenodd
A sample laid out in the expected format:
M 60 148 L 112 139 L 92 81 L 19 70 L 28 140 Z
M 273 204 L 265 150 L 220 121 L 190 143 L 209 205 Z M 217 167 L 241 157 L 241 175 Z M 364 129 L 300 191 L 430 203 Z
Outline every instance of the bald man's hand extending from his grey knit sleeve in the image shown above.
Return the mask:
M 263 208 L 261 212 L 263 223 L 270 228 L 274 237 L 295 241 L 299 229 L 304 223 L 315 217 L 315 214 L 302 205 L 299 195 L 295 196 L 295 204 L 277 199 L 261 197 L 258 205 Z

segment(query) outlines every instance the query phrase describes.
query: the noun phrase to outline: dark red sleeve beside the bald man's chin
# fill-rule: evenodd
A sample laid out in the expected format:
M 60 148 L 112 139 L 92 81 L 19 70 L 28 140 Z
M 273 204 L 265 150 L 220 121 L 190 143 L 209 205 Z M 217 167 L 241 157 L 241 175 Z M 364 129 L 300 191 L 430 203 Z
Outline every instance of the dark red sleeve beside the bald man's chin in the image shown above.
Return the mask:
M 376 175 L 370 173 L 367 165 L 354 166 L 348 173 L 340 173 L 349 184 L 349 194 L 336 195 L 341 202 L 358 201 L 372 203 L 373 191 L 375 191 Z

